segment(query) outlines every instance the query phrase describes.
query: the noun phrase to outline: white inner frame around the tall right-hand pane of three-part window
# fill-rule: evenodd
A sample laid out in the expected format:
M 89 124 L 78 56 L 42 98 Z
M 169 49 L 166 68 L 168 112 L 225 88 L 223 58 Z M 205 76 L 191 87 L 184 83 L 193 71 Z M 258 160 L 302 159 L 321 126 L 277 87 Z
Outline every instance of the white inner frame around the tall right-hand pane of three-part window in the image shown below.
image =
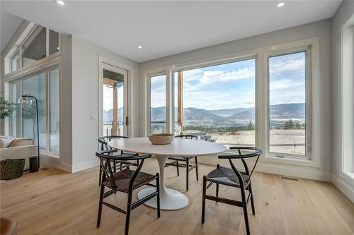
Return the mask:
M 284 56 L 287 54 L 296 54 L 305 52 L 305 155 L 291 155 L 282 152 L 270 152 L 270 71 L 269 59 L 273 56 Z M 266 107 L 265 107 L 265 120 L 266 130 L 265 134 L 265 155 L 267 157 L 285 158 L 285 159 L 312 159 L 312 54 L 311 47 L 295 47 L 291 49 L 282 49 L 265 54 L 266 66 Z

